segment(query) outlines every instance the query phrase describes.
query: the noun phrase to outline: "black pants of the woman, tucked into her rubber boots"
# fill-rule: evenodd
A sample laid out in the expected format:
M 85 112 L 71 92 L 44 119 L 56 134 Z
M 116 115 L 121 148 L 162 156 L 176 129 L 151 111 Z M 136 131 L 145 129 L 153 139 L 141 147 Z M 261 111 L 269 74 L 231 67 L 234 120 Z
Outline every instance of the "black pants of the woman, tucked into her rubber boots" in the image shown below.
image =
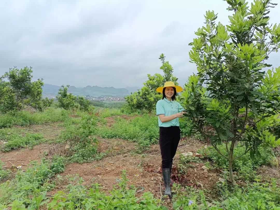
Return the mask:
M 162 158 L 162 168 L 170 168 L 180 141 L 180 128 L 178 126 L 159 128 L 159 146 Z

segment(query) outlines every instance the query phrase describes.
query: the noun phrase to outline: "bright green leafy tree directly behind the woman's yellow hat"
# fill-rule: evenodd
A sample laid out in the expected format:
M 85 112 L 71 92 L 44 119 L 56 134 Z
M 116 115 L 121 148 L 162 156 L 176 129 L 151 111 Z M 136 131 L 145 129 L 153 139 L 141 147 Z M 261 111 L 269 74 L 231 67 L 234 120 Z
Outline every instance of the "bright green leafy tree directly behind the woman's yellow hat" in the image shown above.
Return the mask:
M 162 69 L 164 75 L 161 74 L 148 74 L 148 80 L 143 83 L 142 87 L 137 92 L 125 97 L 127 105 L 132 110 L 147 110 L 149 113 L 155 109 L 155 104 L 158 100 L 162 98 L 162 94 L 158 93 L 156 89 L 162 87 L 166 81 L 173 81 L 175 85 L 178 85 L 178 78 L 173 76 L 174 69 L 169 64 L 169 61 L 165 61 L 164 54 L 160 54 L 159 59 L 162 62 Z

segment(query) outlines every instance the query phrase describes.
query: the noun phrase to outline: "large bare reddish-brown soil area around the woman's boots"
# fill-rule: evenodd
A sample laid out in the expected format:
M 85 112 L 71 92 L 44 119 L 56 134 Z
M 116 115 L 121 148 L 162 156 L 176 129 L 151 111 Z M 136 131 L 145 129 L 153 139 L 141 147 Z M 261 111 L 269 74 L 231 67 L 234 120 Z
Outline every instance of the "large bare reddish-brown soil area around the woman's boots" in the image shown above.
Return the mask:
M 111 153 L 107 157 L 91 163 L 69 164 L 60 175 L 65 177 L 69 174 L 72 176 L 79 174 L 85 180 L 83 185 L 91 186 L 93 183 L 99 183 L 103 187 L 103 191 L 109 192 L 112 190 L 113 185 L 118 183 L 117 179 L 121 178 L 122 170 L 126 170 L 127 178 L 130 180 L 129 185 L 134 185 L 139 190 L 144 188 L 143 192 L 152 192 L 155 197 L 160 198 L 160 183 L 162 190 L 164 190 L 164 184 L 160 171 L 161 157 L 158 145 L 152 145 L 150 150 L 143 154 L 137 154 L 135 153 L 136 145 L 132 142 L 122 139 L 99 139 L 99 141 L 102 142 L 102 147 L 111 149 Z M 179 143 L 179 145 L 182 146 L 179 146 L 174 158 L 172 173 L 175 172 L 175 165 L 179 161 L 180 153 L 195 152 L 198 148 L 204 146 L 199 141 L 191 138 Z M 204 171 L 201 168 L 204 166 L 203 163 L 193 162 L 191 164 L 192 167 L 187 170 L 187 179 L 184 184 L 189 186 L 196 185 L 200 188 L 213 188 L 218 180 L 216 172 Z M 176 174 L 173 174 L 173 176 L 176 176 Z M 68 182 L 66 181 L 63 185 L 56 185 L 50 194 L 65 190 L 67 184 Z M 139 196 L 143 192 L 140 192 Z M 165 205 L 172 206 L 170 200 L 166 200 Z

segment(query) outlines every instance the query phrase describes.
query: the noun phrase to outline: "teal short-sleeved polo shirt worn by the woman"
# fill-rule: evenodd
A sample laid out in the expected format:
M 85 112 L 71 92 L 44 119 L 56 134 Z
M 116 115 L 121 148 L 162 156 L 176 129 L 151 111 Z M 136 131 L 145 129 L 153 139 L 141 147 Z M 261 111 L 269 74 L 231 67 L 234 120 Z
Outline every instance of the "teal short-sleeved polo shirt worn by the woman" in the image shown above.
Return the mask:
M 183 107 L 177 101 L 168 101 L 168 99 L 164 98 L 157 102 L 156 105 L 157 115 L 165 115 L 170 116 L 180 112 Z M 179 118 L 175 118 L 169 122 L 161 122 L 158 117 L 158 126 L 159 127 L 170 127 L 170 126 L 179 126 Z

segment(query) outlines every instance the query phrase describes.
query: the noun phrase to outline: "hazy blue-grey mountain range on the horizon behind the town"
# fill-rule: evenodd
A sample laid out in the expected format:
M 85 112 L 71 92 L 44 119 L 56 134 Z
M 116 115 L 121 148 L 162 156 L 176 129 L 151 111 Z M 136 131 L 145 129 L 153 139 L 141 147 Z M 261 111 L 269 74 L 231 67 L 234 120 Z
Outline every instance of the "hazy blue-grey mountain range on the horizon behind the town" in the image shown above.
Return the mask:
M 57 95 L 58 90 L 61 88 L 57 85 L 50 85 L 50 84 L 44 84 L 43 88 L 43 97 L 54 97 Z M 75 86 L 70 86 L 68 88 L 69 93 L 72 93 L 73 95 L 81 95 L 86 96 L 90 95 L 93 97 L 99 97 L 99 96 L 116 96 L 116 97 L 123 97 L 130 92 L 125 88 L 114 88 L 114 87 L 98 87 L 98 86 L 87 86 L 84 88 L 76 88 Z

